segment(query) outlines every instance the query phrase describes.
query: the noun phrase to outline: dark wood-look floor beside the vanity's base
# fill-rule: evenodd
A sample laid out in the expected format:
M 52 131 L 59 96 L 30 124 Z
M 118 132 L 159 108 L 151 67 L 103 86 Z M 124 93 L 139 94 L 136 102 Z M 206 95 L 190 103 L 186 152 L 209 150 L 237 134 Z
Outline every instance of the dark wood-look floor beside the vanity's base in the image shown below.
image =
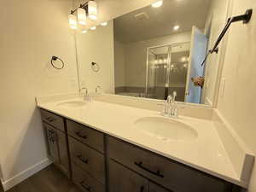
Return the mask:
M 9 189 L 8 192 L 80 192 L 80 190 L 51 165 Z

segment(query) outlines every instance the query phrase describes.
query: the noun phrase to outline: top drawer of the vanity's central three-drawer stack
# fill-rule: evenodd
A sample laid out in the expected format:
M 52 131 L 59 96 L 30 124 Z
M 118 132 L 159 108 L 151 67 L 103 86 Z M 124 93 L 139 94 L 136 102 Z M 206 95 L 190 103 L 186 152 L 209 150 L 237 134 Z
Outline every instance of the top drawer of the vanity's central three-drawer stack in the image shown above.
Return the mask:
M 104 134 L 67 119 L 67 134 L 104 153 Z

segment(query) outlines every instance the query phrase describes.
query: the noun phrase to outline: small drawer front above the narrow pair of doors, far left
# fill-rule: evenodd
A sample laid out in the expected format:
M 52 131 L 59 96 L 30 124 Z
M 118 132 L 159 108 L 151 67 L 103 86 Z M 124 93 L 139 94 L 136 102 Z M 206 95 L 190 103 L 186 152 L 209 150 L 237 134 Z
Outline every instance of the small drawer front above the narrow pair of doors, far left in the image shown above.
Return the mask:
M 41 109 L 41 116 L 42 120 L 49 125 L 53 125 L 55 128 L 65 131 L 65 126 L 64 126 L 64 119 L 61 118 L 60 116 L 54 114 L 54 113 L 49 113 L 48 111 L 45 111 L 44 109 Z

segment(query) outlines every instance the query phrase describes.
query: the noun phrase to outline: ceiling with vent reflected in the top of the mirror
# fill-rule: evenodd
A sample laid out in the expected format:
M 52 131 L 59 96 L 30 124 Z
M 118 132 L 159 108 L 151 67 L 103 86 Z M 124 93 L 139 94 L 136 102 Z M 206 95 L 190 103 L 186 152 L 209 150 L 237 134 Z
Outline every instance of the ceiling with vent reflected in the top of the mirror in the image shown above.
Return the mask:
M 176 32 L 189 32 L 192 26 L 204 28 L 211 0 L 164 0 L 160 8 L 150 5 L 113 20 L 114 38 L 131 43 Z M 179 25 L 178 31 L 173 26 Z

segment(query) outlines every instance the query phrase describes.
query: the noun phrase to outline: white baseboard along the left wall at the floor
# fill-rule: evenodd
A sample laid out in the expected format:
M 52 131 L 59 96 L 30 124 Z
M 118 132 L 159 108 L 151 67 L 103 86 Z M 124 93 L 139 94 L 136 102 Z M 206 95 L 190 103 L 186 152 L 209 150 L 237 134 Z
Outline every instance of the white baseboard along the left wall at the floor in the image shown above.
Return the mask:
M 39 162 L 38 164 L 31 166 L 29 168 L 27 168 L 25 171 L 18 173 L 17 175 L 15 175 L 15 177 L 10 178 L 7 181 L 3 182 L 3 189 L 4 191 L 7 191 L 9 189 L 11 189 L 12 187 L 14 187 L 16 184 L 21 183 L 22 181 L 24 181 L 26 178 L 31 177 L 33 174 L 41 171 L 42 169 L 44 169 L 46 166 L 49 166 L 52 163 L 51 160 L 49 159 L 45 159 L 42 160 L 41 162 Z

